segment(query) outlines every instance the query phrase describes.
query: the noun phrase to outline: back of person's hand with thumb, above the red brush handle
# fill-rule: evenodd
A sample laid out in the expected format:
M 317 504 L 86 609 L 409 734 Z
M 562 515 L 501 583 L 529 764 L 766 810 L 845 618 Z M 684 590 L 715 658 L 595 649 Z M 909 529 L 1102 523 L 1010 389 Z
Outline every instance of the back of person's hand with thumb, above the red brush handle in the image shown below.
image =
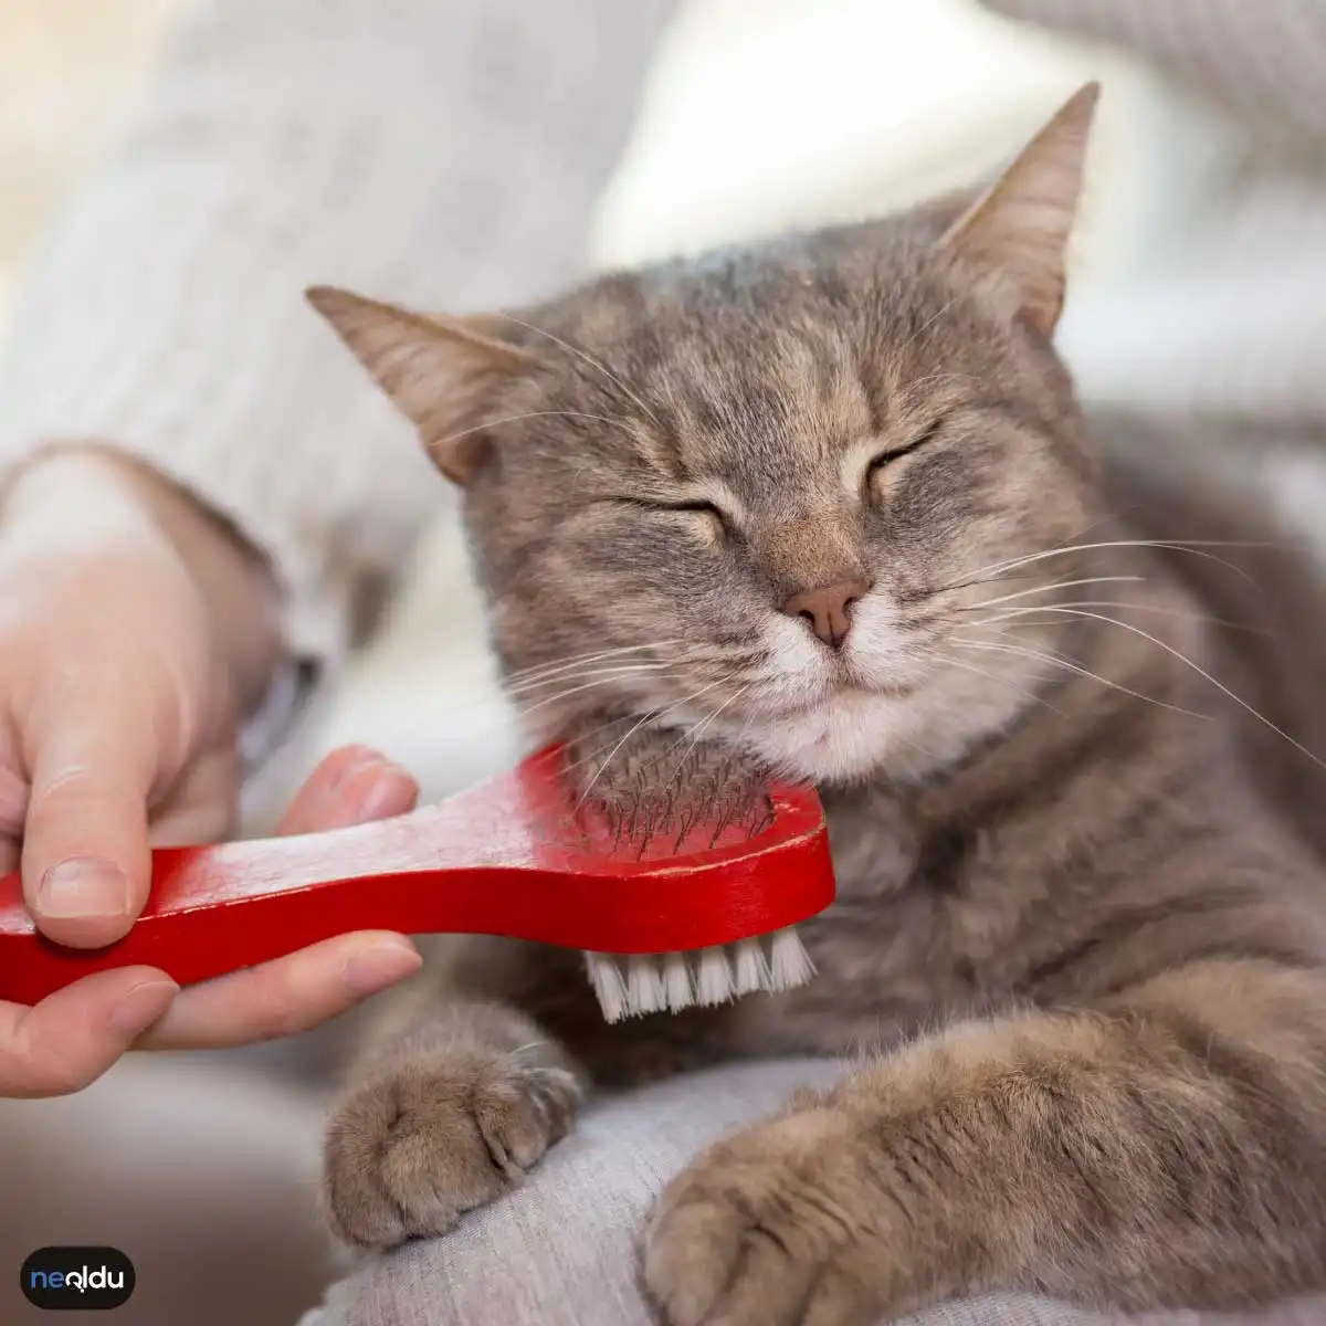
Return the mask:
M 265 568 L 184 493 L 98 452 L 21 473 L 0 513 L 0 871 L 21 863 L 44 935 L 119 939 L 151 842 L 227 835 L 278 652 Z

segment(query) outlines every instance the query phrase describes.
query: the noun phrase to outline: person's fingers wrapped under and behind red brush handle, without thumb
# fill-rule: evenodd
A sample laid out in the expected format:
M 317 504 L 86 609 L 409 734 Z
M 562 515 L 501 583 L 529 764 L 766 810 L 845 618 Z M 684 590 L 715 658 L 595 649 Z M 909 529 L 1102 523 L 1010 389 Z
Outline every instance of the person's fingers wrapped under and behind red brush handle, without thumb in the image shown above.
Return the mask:
M 362 747 L 329 754 L 296 794 L 280 834 L 404 814 L 414 780 Z M 151 967 L 98 972 L 36 1008 L 0 1004 L 0 1098 L 81 1090 L 129 1049 L 215 1049 L 305 1030 L 410 976 L 400 935 L 365 931 L 180 991 Z

